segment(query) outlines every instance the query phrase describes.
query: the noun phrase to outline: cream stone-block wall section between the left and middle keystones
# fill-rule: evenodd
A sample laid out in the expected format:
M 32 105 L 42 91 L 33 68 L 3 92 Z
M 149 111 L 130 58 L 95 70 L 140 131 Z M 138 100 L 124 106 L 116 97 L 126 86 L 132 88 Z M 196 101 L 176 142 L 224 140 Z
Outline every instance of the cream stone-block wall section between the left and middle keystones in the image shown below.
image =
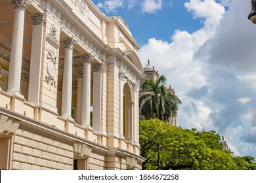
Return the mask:
M 73 169 L 73 147 L 24 129 L 13 136 L 12 169 Z

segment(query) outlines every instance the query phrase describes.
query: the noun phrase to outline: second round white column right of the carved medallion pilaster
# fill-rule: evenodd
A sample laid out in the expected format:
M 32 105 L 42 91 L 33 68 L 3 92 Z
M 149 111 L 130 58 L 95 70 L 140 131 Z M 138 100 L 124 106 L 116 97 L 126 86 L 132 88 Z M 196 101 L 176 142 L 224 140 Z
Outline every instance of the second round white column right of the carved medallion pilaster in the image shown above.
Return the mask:
M 83 93 L 82 93 L 82 112 L 81 125 L 91 127 L 90 125 L 90 107 L 91 107 L 91 63 L 95 56 L 85 54 L 83 59 Z

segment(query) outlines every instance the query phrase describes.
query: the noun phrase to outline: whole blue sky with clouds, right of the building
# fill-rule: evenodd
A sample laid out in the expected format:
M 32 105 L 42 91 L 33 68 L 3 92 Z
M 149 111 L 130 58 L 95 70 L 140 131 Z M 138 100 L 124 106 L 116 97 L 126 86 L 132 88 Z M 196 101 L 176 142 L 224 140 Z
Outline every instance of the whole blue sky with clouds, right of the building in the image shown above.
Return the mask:
M 93 0 L 121 16 L 174 88 L 178 125 L 215 130 L 234 156 L 256 159 L 256 25 L 250 0 Z

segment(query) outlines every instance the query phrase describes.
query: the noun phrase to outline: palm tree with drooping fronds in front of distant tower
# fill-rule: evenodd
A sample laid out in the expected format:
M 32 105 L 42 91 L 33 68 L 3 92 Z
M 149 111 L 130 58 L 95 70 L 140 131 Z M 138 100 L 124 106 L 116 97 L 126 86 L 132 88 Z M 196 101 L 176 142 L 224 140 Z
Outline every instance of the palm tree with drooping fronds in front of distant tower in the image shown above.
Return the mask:
M 147 79 L 142 83 L 142 95 L 139 99 L 140 117 L 158 118 L 164 122 L 169 122 L 171 117 L 177 115 L 178 105 L 181 100 L 175 93 L 167 90 L 166 78 L 161 75 L 156 82 Z

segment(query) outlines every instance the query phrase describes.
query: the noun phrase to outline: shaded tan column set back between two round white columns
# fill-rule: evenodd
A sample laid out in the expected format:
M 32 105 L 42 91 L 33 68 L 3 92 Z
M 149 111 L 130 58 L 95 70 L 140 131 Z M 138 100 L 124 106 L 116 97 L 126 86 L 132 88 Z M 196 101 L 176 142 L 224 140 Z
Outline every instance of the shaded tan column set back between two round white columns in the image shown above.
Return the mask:
M 77 74 L 77 99 L 75 122 L 81 124 L 82 93 L 83 93 L 83 70 L 76 71 Z

